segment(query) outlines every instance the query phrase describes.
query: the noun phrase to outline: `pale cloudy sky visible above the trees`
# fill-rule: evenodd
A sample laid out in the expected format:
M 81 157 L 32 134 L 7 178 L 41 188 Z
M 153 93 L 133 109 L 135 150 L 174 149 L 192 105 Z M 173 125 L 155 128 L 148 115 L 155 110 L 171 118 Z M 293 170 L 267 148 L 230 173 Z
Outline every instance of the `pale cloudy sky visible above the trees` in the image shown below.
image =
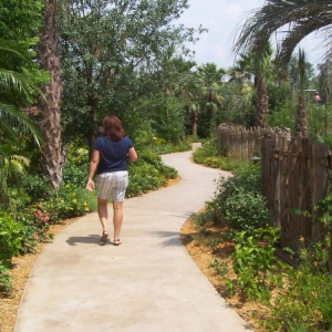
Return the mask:
M 189 45 L 195 51 L 197 64 L 214 62 L 218 68 L 232 66 L 234 33 L 239 31 L 238 27 L 241 27 L 241 22 L 249 17 L 249 12 L 262 7 L 263 2 L 263 0 L 188 0 L 189 9 L 185 10 L 179 22 L 188 28 L 198 28 L 201 24 L 208 29 L 208 32 L 199 35 L 196 44 Z M 320 41 L 317 37 L 310 35 L 300 43 L 308 61 L 314 68 L 322 62 L 321 56 L 324 52 L 319 46 Z

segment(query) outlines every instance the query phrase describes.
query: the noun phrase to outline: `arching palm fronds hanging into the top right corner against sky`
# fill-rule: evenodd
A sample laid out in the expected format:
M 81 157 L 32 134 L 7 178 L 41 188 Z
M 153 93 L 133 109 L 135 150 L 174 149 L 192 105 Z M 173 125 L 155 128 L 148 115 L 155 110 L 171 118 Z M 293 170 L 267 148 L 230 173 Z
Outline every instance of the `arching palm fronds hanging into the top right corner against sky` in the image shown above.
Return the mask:
M 330 0 L 267 0 L 245 22 L 232 51 L 239 53 L 255 45 L 261 54 L 271 35 L 286 27 L 286 37 L 278 44 L 276 56 L 277 63 L 286 64 L 298 43 L 310 33 L 328 32 L 322 34 L 328 43 L 331 38 L 331 9 Z M 325 55 L 331 56 L 331 52 Z

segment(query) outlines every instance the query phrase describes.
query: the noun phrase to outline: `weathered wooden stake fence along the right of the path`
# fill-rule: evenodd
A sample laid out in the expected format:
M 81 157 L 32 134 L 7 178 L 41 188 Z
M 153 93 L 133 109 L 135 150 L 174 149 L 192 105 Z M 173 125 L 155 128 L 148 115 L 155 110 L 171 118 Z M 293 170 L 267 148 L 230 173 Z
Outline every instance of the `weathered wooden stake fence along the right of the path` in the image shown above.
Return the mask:
M 290 136 L 289 129 L 218 127 L 218 148 L 240 159 L 261 157 L 261 191 L 272 221 L 281 229 L 282 247 L 315 239 L 313 208 L 329 193 L 330 152 L 310 137 Z

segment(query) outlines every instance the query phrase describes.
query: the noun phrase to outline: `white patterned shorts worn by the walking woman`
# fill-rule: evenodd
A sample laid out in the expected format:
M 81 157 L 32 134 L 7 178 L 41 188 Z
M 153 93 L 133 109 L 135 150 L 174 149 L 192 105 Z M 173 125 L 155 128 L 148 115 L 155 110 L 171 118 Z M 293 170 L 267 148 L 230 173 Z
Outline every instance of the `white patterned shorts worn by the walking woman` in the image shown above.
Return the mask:
M 97 197 L 113 201 L 123 201 L 128 186 L 128 172 L 120 170 L 97 175 Z

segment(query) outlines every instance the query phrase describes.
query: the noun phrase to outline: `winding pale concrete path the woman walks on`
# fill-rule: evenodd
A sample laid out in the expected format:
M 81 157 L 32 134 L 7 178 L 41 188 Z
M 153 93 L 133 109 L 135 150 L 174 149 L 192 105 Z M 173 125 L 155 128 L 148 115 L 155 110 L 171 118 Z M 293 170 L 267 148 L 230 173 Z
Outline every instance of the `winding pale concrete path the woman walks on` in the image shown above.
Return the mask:
M 29 278 L 15 332 L 250 331 L 181 245 L 181 225 L 221 173 L 190 154 L 163 156 L 179 184 L 125 200 L 121 246 L 100 246 L 95 212 L 56 235 Z

